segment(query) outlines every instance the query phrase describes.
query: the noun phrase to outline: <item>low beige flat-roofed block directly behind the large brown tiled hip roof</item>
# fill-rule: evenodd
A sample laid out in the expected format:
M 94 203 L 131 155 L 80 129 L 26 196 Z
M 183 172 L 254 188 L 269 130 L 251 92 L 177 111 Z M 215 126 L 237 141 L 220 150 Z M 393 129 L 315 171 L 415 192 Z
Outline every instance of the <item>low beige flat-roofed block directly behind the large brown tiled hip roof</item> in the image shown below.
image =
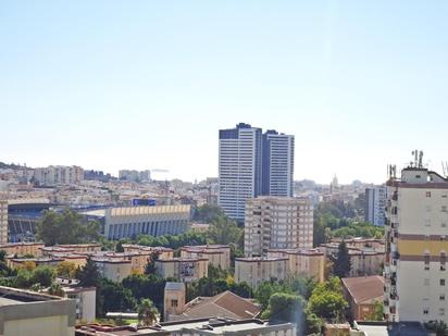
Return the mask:
M 288 274 L 286 257 L 250 257 L 235 259 L 235 282 L 247 283 L 258 288 L 262 282 L 272 278 L 283 281 Z

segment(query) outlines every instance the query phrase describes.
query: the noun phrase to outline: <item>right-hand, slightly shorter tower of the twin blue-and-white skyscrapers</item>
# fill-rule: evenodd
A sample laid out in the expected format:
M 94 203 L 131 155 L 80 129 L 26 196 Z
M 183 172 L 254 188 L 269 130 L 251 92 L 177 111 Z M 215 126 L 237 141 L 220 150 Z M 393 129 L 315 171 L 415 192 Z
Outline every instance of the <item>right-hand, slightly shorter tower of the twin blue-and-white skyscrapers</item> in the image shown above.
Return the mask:
M 294 196 L 294 135 L 263 134 L 262 195 Z

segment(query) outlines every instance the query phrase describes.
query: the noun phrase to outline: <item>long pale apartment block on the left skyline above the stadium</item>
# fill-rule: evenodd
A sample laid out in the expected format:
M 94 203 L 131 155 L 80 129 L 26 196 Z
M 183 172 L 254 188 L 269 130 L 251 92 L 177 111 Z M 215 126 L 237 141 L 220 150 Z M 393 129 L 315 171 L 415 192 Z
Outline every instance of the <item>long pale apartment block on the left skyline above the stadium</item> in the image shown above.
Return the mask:
M 37 167 L 34 170 L 34 179 L 41 186 L 76 184 L 84 181 L 84 170 L 77 165 Z

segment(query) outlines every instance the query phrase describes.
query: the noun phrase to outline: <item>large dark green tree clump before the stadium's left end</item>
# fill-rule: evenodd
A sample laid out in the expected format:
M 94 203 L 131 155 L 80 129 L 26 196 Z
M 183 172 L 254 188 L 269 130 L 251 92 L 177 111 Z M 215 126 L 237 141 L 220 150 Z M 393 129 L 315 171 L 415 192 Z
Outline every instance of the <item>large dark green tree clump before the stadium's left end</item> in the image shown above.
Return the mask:
M 97 241 L 99 231 L 98 222 L 85 221 L 70 209 L 63 212 L 46 211 L 36 225 L 37 237 L 47 246 Z

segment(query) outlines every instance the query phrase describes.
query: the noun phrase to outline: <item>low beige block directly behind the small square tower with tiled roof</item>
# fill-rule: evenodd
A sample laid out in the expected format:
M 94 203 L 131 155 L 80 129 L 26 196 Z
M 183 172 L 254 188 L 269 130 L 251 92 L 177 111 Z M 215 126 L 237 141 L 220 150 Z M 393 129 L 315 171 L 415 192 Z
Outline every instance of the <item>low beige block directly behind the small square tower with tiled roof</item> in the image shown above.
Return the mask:
M 173 258 L 155 261 L 155 273 L 163 278 L 173 277 L 189 283 L 207 276 L 209 260 L 207 258 Z

